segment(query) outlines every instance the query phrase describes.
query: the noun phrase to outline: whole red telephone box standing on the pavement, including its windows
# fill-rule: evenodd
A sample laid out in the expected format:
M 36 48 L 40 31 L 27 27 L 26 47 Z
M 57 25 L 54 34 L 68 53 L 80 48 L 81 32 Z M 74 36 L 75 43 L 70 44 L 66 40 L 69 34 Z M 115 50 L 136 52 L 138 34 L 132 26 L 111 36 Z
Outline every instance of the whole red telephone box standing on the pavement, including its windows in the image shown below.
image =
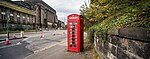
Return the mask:
M 83 17 L 78 14 L 71 14 L 67 18 L 68 50 L 80 52 L 84 47 Z

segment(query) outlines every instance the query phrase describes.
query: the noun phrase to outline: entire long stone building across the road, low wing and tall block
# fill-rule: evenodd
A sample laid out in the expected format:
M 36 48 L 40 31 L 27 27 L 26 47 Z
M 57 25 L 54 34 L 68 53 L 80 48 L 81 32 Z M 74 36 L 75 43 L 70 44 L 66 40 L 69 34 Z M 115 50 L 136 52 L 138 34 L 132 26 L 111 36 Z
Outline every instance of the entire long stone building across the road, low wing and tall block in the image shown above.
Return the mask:
M 6 29 L 7 13 L 12 28 L 57 28 L 56 11 L 42 0 L 0 1 L 0 12 L 0 29 Z

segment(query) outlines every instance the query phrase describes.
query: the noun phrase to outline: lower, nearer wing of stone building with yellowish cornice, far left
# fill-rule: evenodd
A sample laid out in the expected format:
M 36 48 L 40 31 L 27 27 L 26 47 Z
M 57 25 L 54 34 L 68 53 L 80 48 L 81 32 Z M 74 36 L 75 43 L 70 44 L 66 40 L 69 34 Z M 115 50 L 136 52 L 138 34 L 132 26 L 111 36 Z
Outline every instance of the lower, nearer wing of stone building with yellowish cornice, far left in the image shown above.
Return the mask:
M 12 2 L 0 1 L 0 30 L 7 28 L 9 20 L 10 29 L 32 29 L 35 28 L 36 12 L 20 7 Z

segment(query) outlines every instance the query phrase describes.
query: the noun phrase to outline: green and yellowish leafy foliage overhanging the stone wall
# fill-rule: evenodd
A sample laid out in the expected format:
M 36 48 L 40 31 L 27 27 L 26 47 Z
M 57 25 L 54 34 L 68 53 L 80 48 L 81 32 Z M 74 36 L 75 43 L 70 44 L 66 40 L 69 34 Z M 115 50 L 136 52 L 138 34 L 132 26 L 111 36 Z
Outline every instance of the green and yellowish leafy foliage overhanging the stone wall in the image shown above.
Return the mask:
M 103 36 L 112 28 L 144 27 L 150 29 L 150 0 L 91 0 L 82 6 L 85 29 Z

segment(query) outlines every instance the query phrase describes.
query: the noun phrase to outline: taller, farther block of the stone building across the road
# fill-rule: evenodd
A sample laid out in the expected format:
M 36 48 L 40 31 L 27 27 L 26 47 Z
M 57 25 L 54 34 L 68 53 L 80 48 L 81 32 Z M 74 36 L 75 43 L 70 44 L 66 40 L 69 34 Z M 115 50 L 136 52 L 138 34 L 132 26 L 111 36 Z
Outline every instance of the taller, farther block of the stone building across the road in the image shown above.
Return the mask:
M 24 0 L 16 1 L 18 4 L 25 5 L 36 11 L 36 26 L 37 28 L 55 29 L 57 28 L 56 11 L 42 0 Z M 24 4 L 23 4 L 24 3 Z

